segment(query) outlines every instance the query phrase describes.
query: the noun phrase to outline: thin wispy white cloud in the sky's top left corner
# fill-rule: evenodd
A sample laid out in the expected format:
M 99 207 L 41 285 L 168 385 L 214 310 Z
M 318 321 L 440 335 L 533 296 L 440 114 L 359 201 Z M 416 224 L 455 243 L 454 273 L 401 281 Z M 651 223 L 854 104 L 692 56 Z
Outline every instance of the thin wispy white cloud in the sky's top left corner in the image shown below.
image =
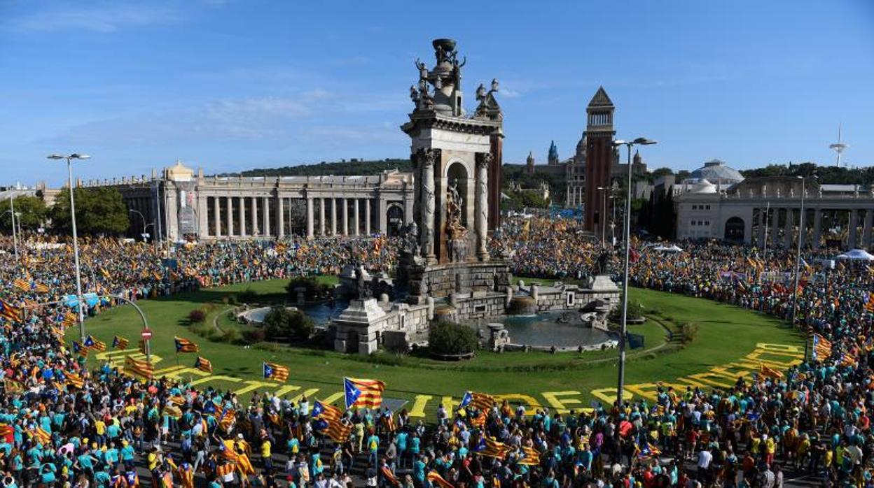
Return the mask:
M 149 5 L 108 4 L 91 8 L 59 8 L 43 10 L 12 19 L 18 31 L 61 31 L 66 29 L 114 32 L 126 26 L 175 24 L 181 20 L 177 10 Z

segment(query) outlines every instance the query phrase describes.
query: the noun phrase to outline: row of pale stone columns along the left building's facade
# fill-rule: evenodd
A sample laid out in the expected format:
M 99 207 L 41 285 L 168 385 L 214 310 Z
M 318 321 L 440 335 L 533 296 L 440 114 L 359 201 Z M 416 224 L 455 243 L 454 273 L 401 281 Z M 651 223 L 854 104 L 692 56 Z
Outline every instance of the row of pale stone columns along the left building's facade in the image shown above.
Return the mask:
M 369 236 L 387 233 L 390 204 L 404 206 L 403 223 L 413 219 L 412 198 L 397 201 L 385 196 L 205 196 L 203 206 L 212 215 L 201 237 L 306 237 Z M 295 228 L 294 201 L 305 206 L 302 226 Z M 409 207 L 409 208 L 408 208 Z M 378 218 L 374 222 L 373 213 Z M 272 218 L 271 218 L 272 217 Z M 300 216 L 297 216 L 300 217 Z M 300 222 L 300 221 L 296 221 Z

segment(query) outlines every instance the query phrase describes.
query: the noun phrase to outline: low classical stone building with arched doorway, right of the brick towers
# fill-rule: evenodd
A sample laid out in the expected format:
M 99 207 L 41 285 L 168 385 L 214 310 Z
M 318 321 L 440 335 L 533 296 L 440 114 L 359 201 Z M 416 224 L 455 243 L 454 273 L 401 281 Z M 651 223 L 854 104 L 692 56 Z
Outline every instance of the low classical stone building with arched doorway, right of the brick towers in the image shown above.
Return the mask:
M 722 172 L 732 175 L 731 172 Z M 720 182 L 722 184 L 722 182 Z M 801 197 L 804 219 L 801 232 Z M 760 247 L 823 245 L 871 249 L 874 188 L 817 184 L 792 176 L 748 178 L 719 188 L 704 178 L 676 196 L 676 237 L 718 238 Z

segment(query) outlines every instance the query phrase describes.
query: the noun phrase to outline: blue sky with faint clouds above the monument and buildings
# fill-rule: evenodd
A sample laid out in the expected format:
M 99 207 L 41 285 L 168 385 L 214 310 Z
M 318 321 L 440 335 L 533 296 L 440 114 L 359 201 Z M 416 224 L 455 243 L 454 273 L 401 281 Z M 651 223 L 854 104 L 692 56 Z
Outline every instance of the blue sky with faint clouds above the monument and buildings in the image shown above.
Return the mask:
M 0 0 L 2 182 L 408 155 L 415 58 L 501 82 L 505 162 L 572 155 L 603 85 L 650 167 L 874 164 L 874 2 Z

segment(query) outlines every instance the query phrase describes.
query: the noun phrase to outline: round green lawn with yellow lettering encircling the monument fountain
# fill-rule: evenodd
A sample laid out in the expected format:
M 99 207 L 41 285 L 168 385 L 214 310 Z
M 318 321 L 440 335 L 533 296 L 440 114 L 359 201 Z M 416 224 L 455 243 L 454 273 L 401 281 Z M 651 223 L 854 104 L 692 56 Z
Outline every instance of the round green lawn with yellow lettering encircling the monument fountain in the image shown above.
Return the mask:
M 323 279 L 336 281 L 333 277 Z M 230 388 L 239 391 L 240 395 L 247 395 L 256 388 L 267 388 L 289 395 L 306 392 L 325 399 L 342 392 L 343 376 L 364 377 L 385 381 L 385 396 L 388 397 L 415 400 L 416 395 L 432 396 L 434 399 L 430 401 L 418 398 L 422 405 L 427 403 L 425 409 L 430 412 L 436 409 L 441 397 L 451 396 L 457 400 L 467 389 L 491 394 L 530 395 L 540 404 L 550 403 L 544 392 L 572 393 L 579 407 L 586 406 L 593 398 L 593 390 L 615 386 L 616 363 L 610 359 L 615 357 L 615 351 L 584 354 L 481 352 L 474 360 L 458 363 L 392 354 L 367 358 L 295 347 L 274 347 L 274 350 L 244 348 L 198 337 L 187 323 L 186 316 L 192 309 L 212 304 L 207 318 L 212 324 L 218 314 L 230 307 L 223 304 L 222 299 L 233 293 L 248 290 L 258 293 L 259 301 L 281 299 L 285 283 L 285 280 L 255 282 L 139 302 L 154 333 L 152 352 L 161 358 L 156 362 L 156 370 L 191 367 L 194 363 L 198 354 L 179 354 L 177 360 L 173 336 L 180 335 L 198 343 L 199 355 L 212 361 L 213 376 L 202 377 L 191 368 L 183 368 L 177 371 L 177 377 L 199 381 L 200 388 Z M 800 336 L 779 321 L 736 306 L 642 289 L 633 289 L 631 298 L 640 300 L 648 310 L 658 311 L 657 316 L 645 325 L 630 327 L 631 332 L 644 334 L 648 350 L 664 345 L 665 327 L 677 334 L 683 323 L 695 323 L 699 330 L 697 338 L 687 347 L 669 354 L 629 352 L 632 361 L 626 368 L 626 384 L 676 381 L 683 376 L 703 373 L 712 367 L 738 361 L 752 353 L 760 342 L 801 345 Z M 221 326 L 225 322 L 218 323 Z M 130 340 L 129 347 L 135 347 L 142 322 L 131 306 L 121 306 L 88 319 L 85 326 L 87 333 L 108 344 L 118 334 Z M 75 339 L 75 334 L 71 329 L 67 340 Z M 677 340 L 675 336 L 674 341 Z M 92 361 L 96 364 L 94 359 Z M 262 361 L 288 366 L 288 382 L 264 381 Z M 407 408 L 411 405 L 408 404 Z

